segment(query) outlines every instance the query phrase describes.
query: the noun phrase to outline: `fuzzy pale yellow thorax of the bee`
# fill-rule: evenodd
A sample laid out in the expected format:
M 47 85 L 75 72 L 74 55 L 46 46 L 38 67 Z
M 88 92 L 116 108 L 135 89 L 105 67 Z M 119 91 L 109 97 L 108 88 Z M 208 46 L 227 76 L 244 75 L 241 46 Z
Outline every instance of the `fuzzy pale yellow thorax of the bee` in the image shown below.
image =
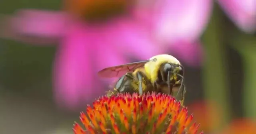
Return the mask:
M 144 65 L 145 71 L 150 78 L 151 83 L 154 83 L 158 77 L 158 71 L 162 63 L 172 63 L 180 65 L 180 61 L 172 55 L 162 54 L 151 57 L 150 59 L 157 59 L 156 61 L 150 61 Z

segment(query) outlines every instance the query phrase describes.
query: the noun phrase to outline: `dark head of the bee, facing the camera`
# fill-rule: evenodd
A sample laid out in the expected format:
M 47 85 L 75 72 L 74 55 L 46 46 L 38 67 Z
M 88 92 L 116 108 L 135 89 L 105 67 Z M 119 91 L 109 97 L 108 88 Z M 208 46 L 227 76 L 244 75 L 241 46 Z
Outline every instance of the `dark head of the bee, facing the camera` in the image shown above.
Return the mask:
M 169 75 L 168 75 L 169 73 Z M 180 82 L 183 77 L 183 67 L 173 63 L 162 63 L 158 71 L 158 83 L 175 85 Z

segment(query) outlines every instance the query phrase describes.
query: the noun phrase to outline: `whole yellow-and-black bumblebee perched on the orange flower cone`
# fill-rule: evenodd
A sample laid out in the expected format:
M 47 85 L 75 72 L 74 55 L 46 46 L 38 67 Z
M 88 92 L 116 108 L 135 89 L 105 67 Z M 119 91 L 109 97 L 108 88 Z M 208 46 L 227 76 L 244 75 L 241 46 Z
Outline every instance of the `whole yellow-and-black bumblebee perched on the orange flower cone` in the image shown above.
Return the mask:
M 120 77 L 114 90 L 108 94 L 147 92 L 166 93 L 174 95 L 182 105 L 186 92 L 183 84 L 184 68 L 180 61 L 172 55 L 155 55 L 146 61 L 139 61 L 108 67 L 98 72 L 100 77 Z M 177 92 L 178 91 L 178 92 Z

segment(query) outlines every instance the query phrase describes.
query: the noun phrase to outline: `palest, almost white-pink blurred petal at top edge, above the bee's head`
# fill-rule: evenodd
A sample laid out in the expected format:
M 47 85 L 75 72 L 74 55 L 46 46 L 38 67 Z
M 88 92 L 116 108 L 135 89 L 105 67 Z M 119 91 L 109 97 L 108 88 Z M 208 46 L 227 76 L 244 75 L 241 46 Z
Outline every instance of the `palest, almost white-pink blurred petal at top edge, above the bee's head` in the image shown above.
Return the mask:
M 160 41 L 194 41 L 204 31 L 211 15 L 212 0 L 158 0 L 153 17 Z

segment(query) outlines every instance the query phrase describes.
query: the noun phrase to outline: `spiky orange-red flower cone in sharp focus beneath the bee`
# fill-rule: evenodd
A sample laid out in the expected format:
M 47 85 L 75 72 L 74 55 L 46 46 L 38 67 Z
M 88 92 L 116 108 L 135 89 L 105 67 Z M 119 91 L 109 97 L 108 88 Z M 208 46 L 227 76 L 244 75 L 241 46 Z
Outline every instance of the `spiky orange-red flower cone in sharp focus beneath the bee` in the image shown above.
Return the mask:
M 73 130 L 75 134 L 197 134 L 199 124 L 190 124 L 192 119 L 171 95 L 118 94 L 88 105 L 80 116 L 86 131 L 77 123 Z

